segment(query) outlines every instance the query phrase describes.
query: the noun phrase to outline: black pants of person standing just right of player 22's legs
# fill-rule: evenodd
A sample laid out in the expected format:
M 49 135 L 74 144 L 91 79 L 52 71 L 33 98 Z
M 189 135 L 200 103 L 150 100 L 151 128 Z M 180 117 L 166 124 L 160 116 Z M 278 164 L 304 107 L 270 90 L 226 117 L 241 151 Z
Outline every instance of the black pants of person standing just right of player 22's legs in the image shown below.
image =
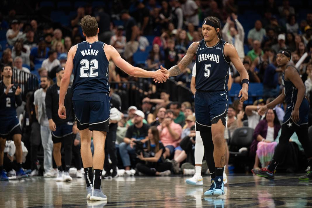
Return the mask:
M 107 133 L 105 140 L 105 160 L 104 160 L 104 170 L 110 171 L 110 169 L 115 169 L 117 166 L 117 154 L 116 154 L 116 131 L 117 128 L 111 128 L 110 133 Z M 108 161 L 108 155 L 110 155 L 110 160 L 112 164 Z

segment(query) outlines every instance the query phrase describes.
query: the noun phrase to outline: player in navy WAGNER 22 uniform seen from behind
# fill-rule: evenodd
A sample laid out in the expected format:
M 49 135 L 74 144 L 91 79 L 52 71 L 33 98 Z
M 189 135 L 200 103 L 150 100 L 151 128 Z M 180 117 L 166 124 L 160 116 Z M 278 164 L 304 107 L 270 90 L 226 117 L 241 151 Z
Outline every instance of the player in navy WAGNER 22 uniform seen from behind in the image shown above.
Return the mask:
M 86 15 L 81 19 L 80 25 L 86 41 L 71 47 L 68 52 L 61 80 L 58 115 L 62 119 L 66 118 L 64 97 L 74 69 L 72 100 L 81 137 L 81 158 L 85 168 L 87 198 L 90 196 L 90 200 L 107 200 L 101 190 L 101 176 L 104 164 L 105 137 L 106 132 L 109 132 L 109 61 L 112 60 L 117 67 L 134 77 L 154 77 L 159 82 L 164 82 L 168 76 L 163 74 L 165 70 L 150 72 L 133 67 L 120 57 L 114 47 L 100 42 L 97 36 L 99 28 L 95 17 Z M 95 148 L 93 159 L 89 130 L 93 131 Z

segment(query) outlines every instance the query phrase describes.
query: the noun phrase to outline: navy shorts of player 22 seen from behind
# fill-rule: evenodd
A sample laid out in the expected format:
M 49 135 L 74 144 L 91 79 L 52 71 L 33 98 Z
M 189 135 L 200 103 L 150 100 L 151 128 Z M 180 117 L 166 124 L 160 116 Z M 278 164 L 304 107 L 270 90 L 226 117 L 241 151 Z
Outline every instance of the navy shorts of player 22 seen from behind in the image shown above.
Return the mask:
M 106 131 L 109 133 L 110 97 L 105 96 L 105 102 L 73 100 L 77 128 L 81 131 Z

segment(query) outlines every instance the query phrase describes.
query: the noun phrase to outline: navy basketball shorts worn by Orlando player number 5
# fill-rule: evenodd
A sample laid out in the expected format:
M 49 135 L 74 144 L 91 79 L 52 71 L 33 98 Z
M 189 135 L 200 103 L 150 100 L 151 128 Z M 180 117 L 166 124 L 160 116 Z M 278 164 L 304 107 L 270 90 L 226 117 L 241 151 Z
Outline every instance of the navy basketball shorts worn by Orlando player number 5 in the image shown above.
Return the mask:
M 207 131 L 208 127 L 220 119 L 226 125 L 228 95 L 227 90 L 195 93 L 196 130 Z

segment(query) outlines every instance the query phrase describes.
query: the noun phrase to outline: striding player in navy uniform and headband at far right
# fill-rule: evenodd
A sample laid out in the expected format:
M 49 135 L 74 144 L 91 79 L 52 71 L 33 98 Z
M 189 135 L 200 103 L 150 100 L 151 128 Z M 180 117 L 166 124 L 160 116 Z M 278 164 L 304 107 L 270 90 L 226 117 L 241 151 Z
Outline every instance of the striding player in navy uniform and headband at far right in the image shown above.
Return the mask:
M 309 102 L 305 98 L 305 85 L 300 78 L 299 72 L 295 67 L 287 65 L 290 58 L 291 54 L 287 50 L 281 50 L 277 53 L 276 62 L 283 71 L 283 92 L 275 100 L 259 108 L 259 114 L 262 115 L 268 108 L 274 107 L 284 100 L 287 104 L 279 139 L 280 142 L 276 146 L 270 165 L 266 169 L 252 169 L 254 174 L 267 179 L 274 179 L 275 168 L 284 158 L 290 136 L 294 132 L 296 132 L 305 151 L 305 156 L 308 158 L 309 165 L 312 167 L 312 144 L 308 135 Z M 312 172 L 309 171 L 306 175 L 300 176 L 299 179 L 311 180 Z

